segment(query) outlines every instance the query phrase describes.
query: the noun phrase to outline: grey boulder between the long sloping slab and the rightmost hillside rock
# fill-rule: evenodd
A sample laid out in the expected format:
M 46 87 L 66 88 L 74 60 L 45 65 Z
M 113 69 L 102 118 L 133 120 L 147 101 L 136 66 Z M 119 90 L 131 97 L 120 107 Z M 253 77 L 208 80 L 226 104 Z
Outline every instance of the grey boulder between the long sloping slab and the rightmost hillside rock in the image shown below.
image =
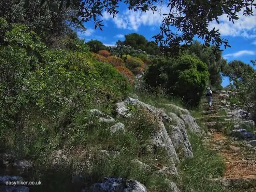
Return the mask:
M 182 127 L 175 127 L 170 125 L 172 128 L 171 140 L 174 145 L 175 150 L 180 146 L 182 147 L 183 154 L 185 157 L 193 158 L 193 152 L 190 142 L 188 141 L 187 131 Z

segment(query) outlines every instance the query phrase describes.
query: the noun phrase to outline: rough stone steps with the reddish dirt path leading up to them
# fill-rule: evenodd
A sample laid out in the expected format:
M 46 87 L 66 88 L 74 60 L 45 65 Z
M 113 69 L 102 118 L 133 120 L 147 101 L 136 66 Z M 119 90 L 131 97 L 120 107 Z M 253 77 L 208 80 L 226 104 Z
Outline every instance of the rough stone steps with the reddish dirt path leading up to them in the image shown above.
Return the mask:
M 235 122 L 233 116 L 228 115 L 231 109 L 223 102 L 223 99 L 227 97 L 226 93 L 226 91 L 213 91 L 212 109 L 209 109 L 207 99 L 203 97 L 201 117 L 196 118 L 196 121 L 211 133 L 210 137 L 203 139 L 206 147 L 218 151 L 227 166 L 224 176 L 213 180 L 223 184 L 228 190 L 256 191 L 255 150 L 248 151 L 246 146 L 232 141 L 223 133 L 228 124 L 230 126 Z M 240 125 L 234 125 L 233 128 L 241 129 Z

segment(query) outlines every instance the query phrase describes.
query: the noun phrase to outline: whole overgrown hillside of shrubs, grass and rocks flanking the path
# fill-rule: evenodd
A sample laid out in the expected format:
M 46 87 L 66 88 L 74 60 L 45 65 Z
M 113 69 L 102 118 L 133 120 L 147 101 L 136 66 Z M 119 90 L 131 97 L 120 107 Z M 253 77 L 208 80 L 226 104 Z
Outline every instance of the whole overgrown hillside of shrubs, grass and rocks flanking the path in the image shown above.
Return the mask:
M 116 47 L 84 42 L 71 30 L 78 5 L 29 2 L 0 2 L 0 191 L 232 191 L 202 140 L 203 121 L 224 117 L 200 107 L 223 72 L 229 101 L 254 114 L 253 68 L 199 42 L 176 55 L 136 33 Z M 4 184 L 20 179 L 42 185 Z

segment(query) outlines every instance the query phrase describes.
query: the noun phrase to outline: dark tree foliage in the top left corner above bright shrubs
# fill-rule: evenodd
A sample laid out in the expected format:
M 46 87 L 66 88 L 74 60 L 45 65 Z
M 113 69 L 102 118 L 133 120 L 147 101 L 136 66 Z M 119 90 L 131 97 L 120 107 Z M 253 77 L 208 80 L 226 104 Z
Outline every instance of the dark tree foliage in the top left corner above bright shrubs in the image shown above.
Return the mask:
M 9 23 L 25 24 L 48 46 L 57 46 L 60 39 L 72 33 L 70 27 L 85 30 L 71 21 L 72 16 L 76 17 L 78 13 L 78 6 L 73 4 L 69 9 L 52 9 L 60 3 L 60 0 L 48 1 L 41 6 L 41 0 L 1 1 L 0 17 Z

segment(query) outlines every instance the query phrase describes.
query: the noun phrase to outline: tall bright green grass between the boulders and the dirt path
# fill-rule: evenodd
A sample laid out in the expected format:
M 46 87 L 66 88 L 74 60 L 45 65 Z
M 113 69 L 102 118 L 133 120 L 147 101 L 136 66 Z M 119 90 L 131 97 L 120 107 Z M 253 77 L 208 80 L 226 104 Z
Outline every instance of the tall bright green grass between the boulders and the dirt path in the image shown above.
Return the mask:
M 194 158 L 184 159 L 179 167 L 181 191 L 227 191 L 221 184 L 207 180 L 211 176 L 217 178 L 223 175 L 225 164 L 216 152 L 209 150 L 196 135 L 189 136 Z

